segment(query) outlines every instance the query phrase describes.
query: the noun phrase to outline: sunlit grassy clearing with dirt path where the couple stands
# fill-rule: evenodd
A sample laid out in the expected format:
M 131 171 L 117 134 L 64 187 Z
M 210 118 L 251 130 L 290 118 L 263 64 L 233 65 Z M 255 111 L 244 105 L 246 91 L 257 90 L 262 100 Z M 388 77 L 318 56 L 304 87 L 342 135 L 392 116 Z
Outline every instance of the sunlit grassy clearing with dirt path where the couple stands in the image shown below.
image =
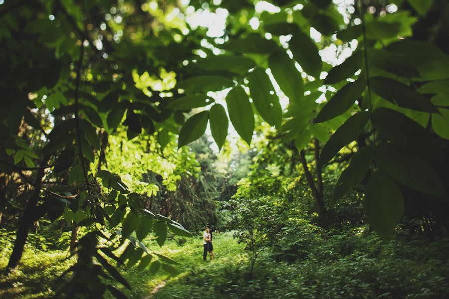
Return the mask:
M 127 269 L 123 275 L 130 282 L 133 290 L 120 289 L 130 298 L 190 298 L 193 294 L 204 293 L 202 286 L 196 284 L 196 281 L 201 281 L 206 270 L 208 273 L 221 272 L 241 260 L 246 260 L 246 255 L 242 254 L 241 246 L 233 240 L 231 233 L 214 235 L 214 252 L 217 259 L 212 262 L 209 261 L 209 257 L 207 262 L 203 261 L 201 236 L 185 238 L 181 242 L 179 242 L 180 239 L 177 240 L 167 241 L 162 248 L 155 241 L 145 243 L 150 250 L 179 263 L 175 266 L 178 275 L 170 276 L 162 270 L 152 275 L 148 268 L 142 272 L 138 272 L 135 268 Z M 184 244 L 182 244 L 183 241 Z M 186 285 L 186 282 L 189 284 Z

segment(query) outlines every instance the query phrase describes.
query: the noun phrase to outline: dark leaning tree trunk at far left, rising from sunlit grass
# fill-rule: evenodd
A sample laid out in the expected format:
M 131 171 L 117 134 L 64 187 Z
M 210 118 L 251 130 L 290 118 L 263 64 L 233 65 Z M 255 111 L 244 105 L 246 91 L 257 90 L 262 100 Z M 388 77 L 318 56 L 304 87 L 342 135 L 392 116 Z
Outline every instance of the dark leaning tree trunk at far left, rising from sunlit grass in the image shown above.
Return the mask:
M 40 165 L 48 164 L 49 156 L 46 155 L 42 159 Z M 33 223 L 39 219 L 40 213 L 37 212 L 37 203 L 39 202 L 40 189 L 42 185 L 42 178 L 45 175 L 44 169 L 37 170 L 36 178 L 34 180 L 34 190 L 31 193 L 31 197 L 28 200 L 26 208 L 23 212 L 22 217 L 19 221 L 19 226 L 17 228 L 16 238 L 14 242 L 14 247 L 12 248 L 11 256 L 9 257 L 8 265 L 6 269 L 16 270 L 20 264 L 20 259 L 23 255 L 23 249 L 25 247 L 26 238 L 28 237 L 28 232 L 33 226 Z

